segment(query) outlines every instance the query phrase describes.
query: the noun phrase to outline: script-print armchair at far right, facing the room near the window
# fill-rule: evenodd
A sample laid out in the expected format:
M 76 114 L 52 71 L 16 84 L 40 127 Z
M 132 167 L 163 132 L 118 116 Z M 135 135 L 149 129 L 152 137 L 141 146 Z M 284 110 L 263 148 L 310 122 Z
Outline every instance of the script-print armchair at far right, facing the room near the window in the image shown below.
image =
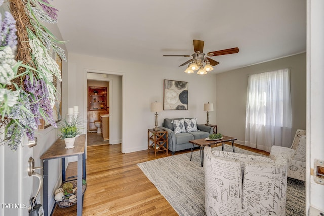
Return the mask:
M 288 177 L 293 179 L 306 180 L 306 131 L 296 131 L 293 144 L 290 148 L 272 146 L 270 157 L 283 154 L 288 160 Z

